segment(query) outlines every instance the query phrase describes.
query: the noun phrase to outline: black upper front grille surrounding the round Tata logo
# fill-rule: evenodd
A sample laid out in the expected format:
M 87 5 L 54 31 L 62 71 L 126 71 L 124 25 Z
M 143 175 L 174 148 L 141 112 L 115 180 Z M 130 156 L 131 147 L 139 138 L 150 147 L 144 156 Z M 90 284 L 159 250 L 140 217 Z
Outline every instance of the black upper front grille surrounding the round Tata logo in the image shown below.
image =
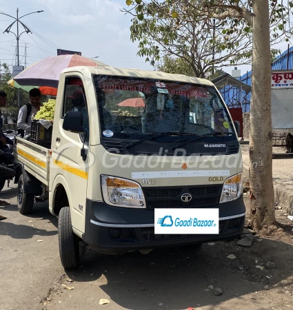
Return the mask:
M 184 187 L 143 187 L 147 209 L 211 207 L 218 205 L 223 185 Z M 182 194 L 191 194 L 192 200 L 184 203 Z

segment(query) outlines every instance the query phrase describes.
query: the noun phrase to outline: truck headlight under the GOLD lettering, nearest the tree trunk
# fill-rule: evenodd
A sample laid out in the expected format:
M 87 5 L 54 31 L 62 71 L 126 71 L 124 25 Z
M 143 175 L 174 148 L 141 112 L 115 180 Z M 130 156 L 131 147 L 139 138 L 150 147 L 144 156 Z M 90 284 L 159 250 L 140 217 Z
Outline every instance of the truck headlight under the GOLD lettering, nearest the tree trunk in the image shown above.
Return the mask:
M 220 203 L 227 203 L 228 201 L 239 198 L 242 194 L 242 172 L 231 176 L 225 180 Z

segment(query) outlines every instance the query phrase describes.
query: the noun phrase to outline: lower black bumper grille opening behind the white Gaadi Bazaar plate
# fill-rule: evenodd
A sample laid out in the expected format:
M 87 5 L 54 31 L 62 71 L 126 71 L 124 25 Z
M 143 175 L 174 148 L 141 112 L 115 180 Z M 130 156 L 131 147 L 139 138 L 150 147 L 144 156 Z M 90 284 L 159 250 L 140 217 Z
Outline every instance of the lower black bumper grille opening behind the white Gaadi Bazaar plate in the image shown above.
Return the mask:
M 225 228 L 226 220 L 219 221 L 219 234 L 223 233 L 223 229 Z M 168 235 L 168 234 L 154 234 L 154 227 L 143 227 L 141 228 L 141 234 L 145 241 L 159 241 L 159 240 L 181 240 L 188 238 L 197 238 L 199 236 L 209 236 L 209 235 L 199 235 L 199 234 L 176 234 L 176 235 Z M 214 235 L 210 235 L 214 236 Z

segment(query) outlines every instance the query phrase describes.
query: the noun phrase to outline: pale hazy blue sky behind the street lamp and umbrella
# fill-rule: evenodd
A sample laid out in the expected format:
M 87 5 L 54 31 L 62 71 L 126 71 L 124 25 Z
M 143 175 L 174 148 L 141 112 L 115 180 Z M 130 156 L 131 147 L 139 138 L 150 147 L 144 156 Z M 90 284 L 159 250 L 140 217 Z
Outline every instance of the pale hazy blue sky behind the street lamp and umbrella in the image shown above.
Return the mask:
M 0 10 L 19 16 L 44 10 L 42 13 L 23 17 L 32 34 L 21 34 L 20 61 L 25 65 L 25 44 L 27 44 L 27 65 L 46 56 L 57 55 L 57 48 L 81 52 L 83 56 L 117 68 L 153 70 L 150 63 L 137 56 L 139 42 L 130 41 L 130 15 L 119 10 L 124 0 L 0 0 Z M 13 34 L 3 31 L 13 19 L 0 14 L 0 61 L 15 65 L 16 40 Z M 16 26 L 12 28 L 16 32 Z M 21 30 L 19 30 L 21 31 Z M 46 42 L 47 41 L 47 42 Z M 284 45 L 279 48 L 285 50 Z M 232 67 L 223 68 L 231 74 Z M 239 66 L 241 75 L 251 70 L 250 65 Z

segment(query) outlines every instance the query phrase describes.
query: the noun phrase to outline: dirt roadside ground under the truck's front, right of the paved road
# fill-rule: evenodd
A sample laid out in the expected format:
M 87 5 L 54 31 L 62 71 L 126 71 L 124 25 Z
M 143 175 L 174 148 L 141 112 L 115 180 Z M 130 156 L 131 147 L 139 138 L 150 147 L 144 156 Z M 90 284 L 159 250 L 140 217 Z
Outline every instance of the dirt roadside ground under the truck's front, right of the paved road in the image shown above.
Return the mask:
M 279 230 L 256 235 L 251 247 L 235 240 L 119 256 L 85 247 L 79 269 L 59 281 L 43 309 L 293 309 L 293 226 L 276 214 Z M 98 296 L 110 303 L 99 305 Z

